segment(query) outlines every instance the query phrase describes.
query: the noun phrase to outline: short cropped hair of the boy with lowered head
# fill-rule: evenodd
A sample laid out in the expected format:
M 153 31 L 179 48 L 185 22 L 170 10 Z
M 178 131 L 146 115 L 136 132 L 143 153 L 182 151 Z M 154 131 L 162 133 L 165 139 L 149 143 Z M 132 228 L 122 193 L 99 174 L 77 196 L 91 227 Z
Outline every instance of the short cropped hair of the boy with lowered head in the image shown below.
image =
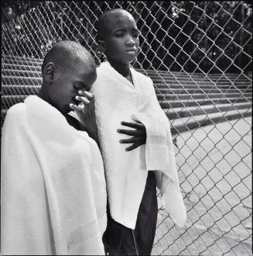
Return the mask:
M 60 41 L 56 43 L 46 54 L 43 60 L 41 71 L 47 63 L 53 62 L 63 71 L 79 68 L 81 61 L 87 64 L 87 67 L 96 68 L 94 58 L 91 53 L 80 43 L 74 41 Z

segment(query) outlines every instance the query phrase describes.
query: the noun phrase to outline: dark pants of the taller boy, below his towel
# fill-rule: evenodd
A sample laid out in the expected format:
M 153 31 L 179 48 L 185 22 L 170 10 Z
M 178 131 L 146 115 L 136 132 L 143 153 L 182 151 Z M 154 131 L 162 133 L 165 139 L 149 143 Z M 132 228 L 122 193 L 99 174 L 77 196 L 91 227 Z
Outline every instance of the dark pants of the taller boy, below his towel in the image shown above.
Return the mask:
M 153 171 L 149 171 L 135 230 L 113 220 L 108 208 L 108 226 L 103 236 L 106 254 L 150 255 L 156 234 L 157 213 L 156 177 Z

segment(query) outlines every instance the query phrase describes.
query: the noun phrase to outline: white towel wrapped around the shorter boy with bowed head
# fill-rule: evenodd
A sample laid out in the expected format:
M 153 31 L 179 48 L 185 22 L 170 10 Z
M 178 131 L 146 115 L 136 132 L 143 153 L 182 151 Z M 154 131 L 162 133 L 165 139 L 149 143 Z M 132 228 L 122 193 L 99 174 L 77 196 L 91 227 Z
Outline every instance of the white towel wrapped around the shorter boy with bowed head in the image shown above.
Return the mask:
M 104 254 L 104 168 L 97 144 L 37 96 L 2 130 L 2 254 Z

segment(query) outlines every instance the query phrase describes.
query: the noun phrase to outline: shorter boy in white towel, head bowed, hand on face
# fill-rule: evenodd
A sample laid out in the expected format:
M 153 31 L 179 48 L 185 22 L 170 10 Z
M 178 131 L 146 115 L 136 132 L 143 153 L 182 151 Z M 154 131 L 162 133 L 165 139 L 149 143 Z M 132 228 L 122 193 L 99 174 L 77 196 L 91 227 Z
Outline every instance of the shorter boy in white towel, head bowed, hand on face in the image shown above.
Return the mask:
M 2 130 L 1 253 L 101 255 L 106 187 L 91 138 L 94 97 L 77 96 L 97 77 L 94 60 L 79 43 L 62 41 L 42 72 L 39 95 L 12 106 Z M 72 109 L 83 113 L 85 127 L 67 115 Z

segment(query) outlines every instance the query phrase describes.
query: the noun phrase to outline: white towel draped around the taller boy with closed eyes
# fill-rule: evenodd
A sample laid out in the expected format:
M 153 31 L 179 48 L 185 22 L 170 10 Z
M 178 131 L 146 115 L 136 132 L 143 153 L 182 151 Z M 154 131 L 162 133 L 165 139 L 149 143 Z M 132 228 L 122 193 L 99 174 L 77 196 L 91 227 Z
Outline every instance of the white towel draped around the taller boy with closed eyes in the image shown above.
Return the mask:
M 131 68 L 134 85 L 109 62 L 97 67 L 95 95 L 97 125 L 104 159 L 111 216 L 134 229 L 148 171 L 156 171 L 162 202 L 175 223 L 183 226 L 186 208 L 179 189 L 169 121 L 159 106 L 152 80 Z M 146 144 L 125 151 L 129 138 L 117 132 L 121 121 L 139 120 L 147 132 Z

